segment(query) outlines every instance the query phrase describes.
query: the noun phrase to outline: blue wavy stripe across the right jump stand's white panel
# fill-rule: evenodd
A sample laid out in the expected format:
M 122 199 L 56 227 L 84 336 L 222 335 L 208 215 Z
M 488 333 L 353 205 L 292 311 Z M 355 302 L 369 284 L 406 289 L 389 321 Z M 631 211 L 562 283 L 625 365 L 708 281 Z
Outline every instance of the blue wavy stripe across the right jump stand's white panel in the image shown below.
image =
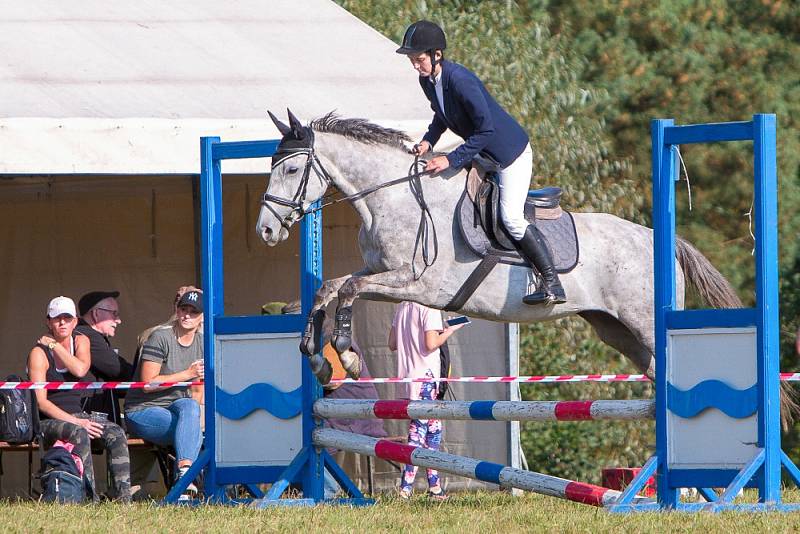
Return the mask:
M 683 391 L 667 384 L 669 410 L 685 419 L 708 408 L 717 408 L 728 417 L 743 419 L 758 410 L 758 386 L 734 389 L 719 380 L 705 380 Z

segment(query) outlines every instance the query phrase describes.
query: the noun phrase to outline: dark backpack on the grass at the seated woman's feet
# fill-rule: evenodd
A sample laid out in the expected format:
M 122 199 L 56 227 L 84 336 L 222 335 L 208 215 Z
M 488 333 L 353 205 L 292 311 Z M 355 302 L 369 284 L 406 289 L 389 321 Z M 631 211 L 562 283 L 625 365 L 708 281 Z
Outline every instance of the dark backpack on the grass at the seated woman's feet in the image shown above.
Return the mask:
M 39 480 L 42 484 L 42 501 L 79 504 L 87 495 L 94 495 L 91 484 L 81 476 L 72 454 L 55 446 L 42 456 Z

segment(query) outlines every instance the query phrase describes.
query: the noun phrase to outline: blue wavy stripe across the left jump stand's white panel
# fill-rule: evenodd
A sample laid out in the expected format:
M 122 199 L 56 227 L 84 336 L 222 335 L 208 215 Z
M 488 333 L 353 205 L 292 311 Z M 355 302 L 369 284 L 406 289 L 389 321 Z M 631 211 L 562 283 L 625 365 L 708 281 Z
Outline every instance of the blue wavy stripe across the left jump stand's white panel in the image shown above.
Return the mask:
M 291 419 L 303 410 L 302 386 L 281 391 L 270 384 L 251 384 L 239 393 L 228 393 L 217 386 L 217 413 L 228 419 L 243 419 L 258 410 L 266 410 L 278 419 Z

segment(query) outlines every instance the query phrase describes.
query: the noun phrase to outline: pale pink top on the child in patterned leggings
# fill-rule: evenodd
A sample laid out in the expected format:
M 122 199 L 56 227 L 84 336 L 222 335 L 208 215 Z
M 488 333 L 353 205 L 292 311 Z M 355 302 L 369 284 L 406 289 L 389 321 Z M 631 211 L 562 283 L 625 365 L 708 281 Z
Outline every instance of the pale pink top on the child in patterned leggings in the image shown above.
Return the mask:
M 428 351 L 425 332 L 444 330 L 442 313 L 416 302 L 401 302 L 392 321 L 397 338 L 397 376 L 424 377 L 430 370 L 435 378 L 440 376 L 439 349 Z M 408 398 L 419 399 L 421 383 L 406 384 Z

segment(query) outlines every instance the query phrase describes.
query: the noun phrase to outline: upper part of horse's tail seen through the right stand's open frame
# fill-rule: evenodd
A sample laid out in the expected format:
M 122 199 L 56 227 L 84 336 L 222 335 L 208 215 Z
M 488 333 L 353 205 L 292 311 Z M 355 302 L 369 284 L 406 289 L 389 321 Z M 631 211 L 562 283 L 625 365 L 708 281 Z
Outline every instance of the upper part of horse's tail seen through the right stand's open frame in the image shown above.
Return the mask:
M 675 240 L 675 254 L 684 278 L 691 282 L 705 302 L 714 308 L 741 308 L 742 301 L 728 279 L 688 241 Z

